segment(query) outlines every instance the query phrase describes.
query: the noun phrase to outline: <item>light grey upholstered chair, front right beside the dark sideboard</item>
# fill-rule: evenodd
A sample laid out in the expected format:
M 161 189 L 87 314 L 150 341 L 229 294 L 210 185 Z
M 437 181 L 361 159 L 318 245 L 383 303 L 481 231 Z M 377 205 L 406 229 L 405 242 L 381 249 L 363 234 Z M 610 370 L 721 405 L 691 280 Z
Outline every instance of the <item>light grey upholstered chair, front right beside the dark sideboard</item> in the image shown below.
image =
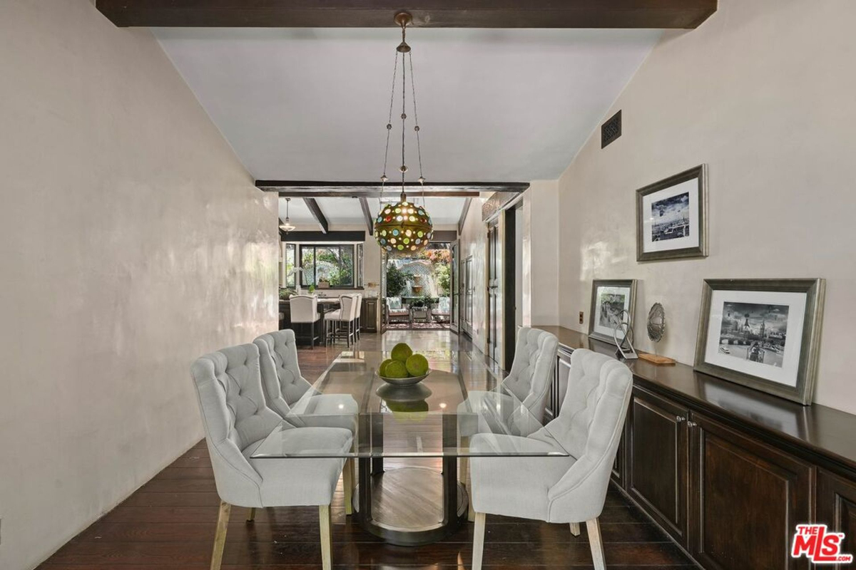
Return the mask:
M 568 391 L 556 420 L 527 438 L 492 433 L 473 436 L 474 452 L 496 450 L 513 441 L 515 450 L 561 446 L 571 455 L 473 457 L 473 570 L 482 565 L 485 514 L 569 523 L 574 535 L 579 535 L 580 523 L 586 522 L 594 567 L 606 568 L 598 517 L 632 388 L 633 376 L 621 362 L 591 350 L 574 350 Z

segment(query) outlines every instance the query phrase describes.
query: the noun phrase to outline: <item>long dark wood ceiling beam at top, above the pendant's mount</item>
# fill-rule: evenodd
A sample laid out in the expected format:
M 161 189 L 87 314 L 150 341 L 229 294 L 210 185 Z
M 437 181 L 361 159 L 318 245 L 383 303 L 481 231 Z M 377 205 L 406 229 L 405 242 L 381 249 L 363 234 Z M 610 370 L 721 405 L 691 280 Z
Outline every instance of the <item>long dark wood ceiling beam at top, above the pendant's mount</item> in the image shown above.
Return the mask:
M 693 28 L 717 0 L 96 0 L 116 26 Z

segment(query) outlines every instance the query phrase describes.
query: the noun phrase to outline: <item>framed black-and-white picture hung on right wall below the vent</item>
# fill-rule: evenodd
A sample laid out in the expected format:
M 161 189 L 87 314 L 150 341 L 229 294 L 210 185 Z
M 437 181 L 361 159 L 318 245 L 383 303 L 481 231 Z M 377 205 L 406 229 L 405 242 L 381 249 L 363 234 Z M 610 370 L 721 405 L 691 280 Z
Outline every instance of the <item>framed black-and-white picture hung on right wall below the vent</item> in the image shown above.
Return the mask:
M 636 191 L 636 261 L 707 257 L 707 165 Z

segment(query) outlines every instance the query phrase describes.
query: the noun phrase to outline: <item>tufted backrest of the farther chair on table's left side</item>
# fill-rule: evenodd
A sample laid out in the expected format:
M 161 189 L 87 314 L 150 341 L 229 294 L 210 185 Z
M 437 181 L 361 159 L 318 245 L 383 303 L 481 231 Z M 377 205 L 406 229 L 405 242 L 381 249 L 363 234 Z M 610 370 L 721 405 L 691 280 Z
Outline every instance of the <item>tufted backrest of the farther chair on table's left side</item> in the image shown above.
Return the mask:
M 300 373 L 294 331 L 268 332 L 256 338 L 253 344 L 259 347 L 265 400 L 284 418 L 291 406 L 312 388 Z

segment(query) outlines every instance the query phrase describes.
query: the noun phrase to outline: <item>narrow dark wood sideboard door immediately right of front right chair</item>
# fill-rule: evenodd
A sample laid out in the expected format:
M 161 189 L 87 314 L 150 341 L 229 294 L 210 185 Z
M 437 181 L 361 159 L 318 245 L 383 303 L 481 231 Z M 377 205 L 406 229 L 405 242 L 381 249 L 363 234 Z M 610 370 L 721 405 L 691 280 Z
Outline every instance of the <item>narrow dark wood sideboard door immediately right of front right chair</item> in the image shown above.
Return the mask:
M 633 387 L 625 455 L 627 492 L 683 545 L 687 544 L 688 414 L 687 408 L 671 400 Z

